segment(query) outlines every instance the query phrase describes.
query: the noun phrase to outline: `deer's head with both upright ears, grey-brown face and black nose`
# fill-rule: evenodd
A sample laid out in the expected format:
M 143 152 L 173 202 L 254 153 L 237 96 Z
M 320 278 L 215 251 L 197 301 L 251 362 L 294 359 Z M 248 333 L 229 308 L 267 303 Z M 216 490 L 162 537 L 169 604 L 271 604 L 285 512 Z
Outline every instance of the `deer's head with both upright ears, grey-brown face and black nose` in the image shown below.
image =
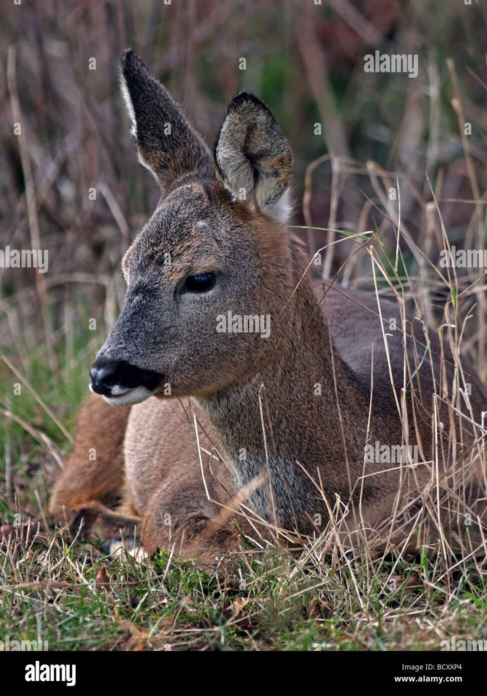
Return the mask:
M 90 388 L 124 405 L 154 393 L 208 395 L 246 379 L 275 349 L 272 324 L 264 339 L 256 319 L 272 322 L 293 290 L 282 224 L 292 152 L 248 92 L 228 106 L 212 156 L 131 50 L 122 58 L 122 90 L 138 157 L 162 195 L 122 261 L 125 306 L 90 370 Z

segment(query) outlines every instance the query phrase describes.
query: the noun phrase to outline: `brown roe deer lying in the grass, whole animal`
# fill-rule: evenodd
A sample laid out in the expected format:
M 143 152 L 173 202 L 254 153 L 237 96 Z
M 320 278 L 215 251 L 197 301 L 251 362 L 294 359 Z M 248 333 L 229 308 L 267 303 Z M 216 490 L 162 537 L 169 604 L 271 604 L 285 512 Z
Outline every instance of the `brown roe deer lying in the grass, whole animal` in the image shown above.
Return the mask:
M 292 151 L 271 111 L 239 93 L 212 157 L 131 50 L 122 90 L 162 195 L 122 261 L 125 306 L 90 370 L 51 514 L 138 522 L 147 551 L 233 548 L 231 514 L 249 528 L 241 511 L 295 535 L 331 524 L 344 544 L 414 547 L 430 491 L 455 480 L 479 532 L 484 385 L 422 322 L 403 323 L 399 303 L 308 278 L 285 225 Z M 470 406 L 452 404 L 465 382 Z M 371 461 L 365 445 L 403 454 Z M 446 525 L 458 541 L 463 516 Z

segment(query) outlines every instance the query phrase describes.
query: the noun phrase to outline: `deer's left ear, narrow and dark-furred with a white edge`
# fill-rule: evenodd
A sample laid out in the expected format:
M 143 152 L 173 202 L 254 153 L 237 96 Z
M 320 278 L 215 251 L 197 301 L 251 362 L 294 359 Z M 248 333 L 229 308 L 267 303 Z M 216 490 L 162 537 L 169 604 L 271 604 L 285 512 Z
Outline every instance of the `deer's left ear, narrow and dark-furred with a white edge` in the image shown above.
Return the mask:
M 163 191 L 193 171 L 211 169 L 211 155 L 165 87 L 131 49 L 121 62 L 121 86 L 138 157 Z

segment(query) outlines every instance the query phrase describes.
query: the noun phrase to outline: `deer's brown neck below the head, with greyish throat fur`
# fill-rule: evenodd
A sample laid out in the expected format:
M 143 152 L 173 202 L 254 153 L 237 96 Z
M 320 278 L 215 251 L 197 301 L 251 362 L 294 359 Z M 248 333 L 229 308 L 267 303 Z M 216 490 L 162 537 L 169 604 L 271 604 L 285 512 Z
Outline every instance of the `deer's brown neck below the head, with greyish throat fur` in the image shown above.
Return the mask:
M 237 488 L 270 473 L 271 489 L 257 489 L 251 502 L 267 519 L 271 506 L 280 525 L 302 528 L 303 518 L 317 512 L 311 500 L 319 498 L 306 472 L 317 480 L 318 466 L 344 460 L 336 385 L 350 393 L 354 384 L 308 283 L 271 323 L 271 335 L 269 359 L 259 372 L 199 403 L 221 438 Z M 346 467 L 333 469 L 332 495 L 348 489 Z

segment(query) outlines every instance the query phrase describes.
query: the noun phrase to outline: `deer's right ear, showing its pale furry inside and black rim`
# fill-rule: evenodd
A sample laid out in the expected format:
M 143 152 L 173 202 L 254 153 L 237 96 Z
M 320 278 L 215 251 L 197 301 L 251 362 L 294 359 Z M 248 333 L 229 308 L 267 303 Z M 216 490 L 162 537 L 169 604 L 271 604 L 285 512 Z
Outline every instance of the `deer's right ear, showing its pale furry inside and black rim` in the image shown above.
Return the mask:
M 230 102 L 214 155 L 217 175 L 234 198 L 287 219 L 292 150 L 271 111 L 250 92 Z

